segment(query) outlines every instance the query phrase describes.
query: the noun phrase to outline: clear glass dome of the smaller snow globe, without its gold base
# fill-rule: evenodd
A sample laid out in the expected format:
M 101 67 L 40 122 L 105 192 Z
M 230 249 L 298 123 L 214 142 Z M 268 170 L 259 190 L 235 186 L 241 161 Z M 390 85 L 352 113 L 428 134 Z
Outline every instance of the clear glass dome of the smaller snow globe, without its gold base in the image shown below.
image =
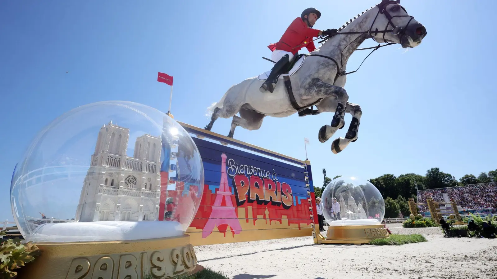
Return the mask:
M 330 226 L 377 225 L 385 216 L 385 201 L 380 191 L 356 176 L 331 180 L 321 201 L 323 216 Z

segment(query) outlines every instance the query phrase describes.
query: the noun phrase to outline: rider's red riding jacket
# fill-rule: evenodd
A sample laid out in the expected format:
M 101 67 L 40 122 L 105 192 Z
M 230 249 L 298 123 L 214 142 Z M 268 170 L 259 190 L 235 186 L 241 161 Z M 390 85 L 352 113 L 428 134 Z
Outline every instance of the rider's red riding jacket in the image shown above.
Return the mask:
M 318 37 L 320 30 L 307 26 L 302 18 L 295 18 L 286 29 L 281 39 L 267 46 L 271 51 L 283 50 L 295 55 L 300 49 L 306 47 L 309 52 L 315 51 L 313 37 Z

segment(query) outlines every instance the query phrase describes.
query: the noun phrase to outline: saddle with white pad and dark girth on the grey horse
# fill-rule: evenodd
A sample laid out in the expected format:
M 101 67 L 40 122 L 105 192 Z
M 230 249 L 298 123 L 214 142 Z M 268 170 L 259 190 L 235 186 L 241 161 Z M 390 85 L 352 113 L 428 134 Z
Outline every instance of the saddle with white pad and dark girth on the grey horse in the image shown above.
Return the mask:
M 306 115 L 318 115 L 320 112 L 318 110 L 314 110 L 313 107 L 315 104 L 321 101 L 322 98 L 317 100 L 316 102 L 313 102 L 307 106 L 300 107 L 297 104 L 297 101 L 295 100 L 295 96 L 293 95 L 293 90 L 292 90 L 292 83 L 290 81 L 290 76 L 292 76 L 297 70 L 302 67 L 304 64 L 306 55 L 305 54 L 299 54 L 296 55 L 292 61 L 288 62 L 287 65 L 285 65 L 281 70 L 279 70 L 276 73 L 276 83 L 278 82 L 279 79 L 284 80 L 284 85 L 286 88 L 286 92 L 288 93 L 288 98 L 290 99 L 290 103 L 292 104 L 292 107 L 298 111 L 299 117 L 306 116 Z M 265 57 L 262 57 L 265 60 L 271 61 L 275 63 L 274 61 L 267 59 Z M 258 80 L 266 80 L 267 77 L 269 76 L 269 73 L 271 70 L 268 70 L 264 73 L 261 73 L 257 79 Z

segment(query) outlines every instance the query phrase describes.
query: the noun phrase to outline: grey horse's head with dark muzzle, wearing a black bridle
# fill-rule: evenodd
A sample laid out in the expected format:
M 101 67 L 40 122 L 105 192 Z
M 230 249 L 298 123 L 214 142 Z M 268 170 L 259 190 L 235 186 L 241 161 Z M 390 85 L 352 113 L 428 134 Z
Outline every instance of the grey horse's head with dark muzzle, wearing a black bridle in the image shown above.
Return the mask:
M 371 36 L 377 42 L 393 42 L 403 48 L 414 48 L 426 36 L 426 28 L 409 15 L 400 0 L 382 0 L 371 24 Z M 372 9 L 374 10 L 374 9 Z M 392 30 L 392 32 L 378 32 Z

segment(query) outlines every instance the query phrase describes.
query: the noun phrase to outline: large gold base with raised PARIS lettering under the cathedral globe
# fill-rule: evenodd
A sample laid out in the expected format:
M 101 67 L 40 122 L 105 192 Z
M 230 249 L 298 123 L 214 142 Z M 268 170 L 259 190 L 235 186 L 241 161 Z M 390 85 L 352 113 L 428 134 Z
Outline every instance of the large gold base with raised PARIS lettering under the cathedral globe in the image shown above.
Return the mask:
M 190 236 L 132 241 L 37 244 L 41 255 L 19 279 L 145 279 L 193 274 Z

